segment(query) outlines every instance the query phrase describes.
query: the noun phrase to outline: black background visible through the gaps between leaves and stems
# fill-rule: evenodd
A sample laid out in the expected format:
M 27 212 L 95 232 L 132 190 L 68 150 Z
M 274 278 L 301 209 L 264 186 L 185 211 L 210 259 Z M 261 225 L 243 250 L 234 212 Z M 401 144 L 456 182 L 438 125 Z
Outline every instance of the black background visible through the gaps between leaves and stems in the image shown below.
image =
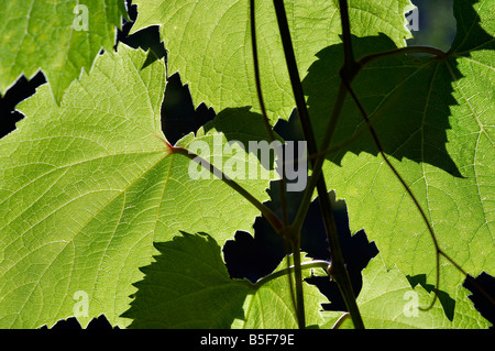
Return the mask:
M 455 34 L 455 20 L 452 14 L 452 0 L 428 1 L 413 0 L 419 9 L 419 31 L 414 32 L 415 37 L 408 41 L 409 45 L 430 45 L 447 51 L 453 41 Z M 130 4 L 128 9 L 130 18 L 136 17 L 135 6 Z M 163 43 L 160 43 L 158 29 L 152 26 L 140 31 L 131 36 L 128 33 L 132 22 L 123 22 L 122 31 L 118 33 L 118 42 L 125 43 L 132 47 L 141 46 L 143 50 L 151 48 L 156 56 L 166 58 L 166 51 Z M 15 123 L 23 116 L 15 111 L 15 106 L 35 92 L 37 86 L 44 84 L 45 77 L 38 73 L 30 81 L 21 77 L 16 84 L 7 91 L 6 96 L 0 98 L 0 121 L 2 123 L 2 133 L 6 135 L 15 129 Z M 183 86 L 178 74 L 172 74 L 168 77 L 165 99 L 162 106 L 162 128 L 167 140 L 175 143 L 183 135 L 190 131 L 196 131 L 200 125 L 213 119 L 216 111 L 206 107 L 204 103 L 195 109 L 187 86 Z M 168 127 L 169 125 L 169 127 Z M 292 116 L 289 122 L 279 121 L 275 130 L 285 140 L 300 140 L 298 121 L 296 116 Z M 275 211 L 279 211 L 278 206 L 278 186 L 273 183 L 270 190 L 273 199 L 268 206 Z M 332 194 L 333 195 L 333 194 Z M 288 193 L 289 212 L 294 216 L 299 204 L 299 193 Z M 343 201 L 333 202 L 334 216 L 341 239 L 344 259 L 350 272 L 351 281 L 356 294 L 362 285 L 361 271 L 367 265 L 367 262 L 374 257 L 378 250 L 374 243 L 369 243 L 364 231 L 358 232 L 351 237 L 346 217 L 346 208 Z M 285 255 L 282 239 L 271 229 L 270 224 L 263 219 L 256 219 L 254 223 L 255 238 L 251 234 L 238 231 L 232 241 L 228 241 L 224 249 L 224 259 L 229 273 L 232 277 L 246 277 L 253 282 L 271 273 Z M 301 250 L 311 257 L 329 260 L 328 244 L 321 220 L 318 201 L 311 204 L 307 219 L 301 232 Z M 307 281 L 309 284 L 317 285 L 320 290 L 329 297 L 331 304 L 323 306 L 326 309 L 345 310 L 345 306 L 334 283 L 326 277 L 312 277 Z M 476 282 L 483 286 L 492 296 L 495 295 L 495 279 L 483 273 L 476 278 Z M 473 295 L 470 297 L 480 312 L 492 323 L 495 321 L 495 310 L 488 305 L 483 296 L 476 292 L 472 284 L 464 284 Z M 45 327 L 46 328 L 46 327 Z M 79 323 L 75 318 L 58 321 L 54 329 L 78 329 Z M 88 326 L 88 329 L 109 329 L 112 328 L 105 316 L 95 318 Z

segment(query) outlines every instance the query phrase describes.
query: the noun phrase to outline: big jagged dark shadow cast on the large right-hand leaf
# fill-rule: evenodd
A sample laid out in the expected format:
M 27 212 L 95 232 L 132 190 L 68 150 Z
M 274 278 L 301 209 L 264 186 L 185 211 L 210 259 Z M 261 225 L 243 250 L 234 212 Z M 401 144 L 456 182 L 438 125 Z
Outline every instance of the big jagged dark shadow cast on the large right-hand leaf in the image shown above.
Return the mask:
M 384 34 L 353 37 L 356 57 L 395 50 Z M 332 45 L 318 54 L 304 80 L 315 134 L 321 141 L 336 102 L 342 45 Z M 387 155 L 402 161 L 428 163 L 462 177 L 448 154 L 449 107 L 455 105 L 452 75 L 461 74 L 455 59 L 396 55 L 366 65 L 352 86 L 372 121 Z M 450 66 L 450 67 L 448 67 Z M 348 96 L 327 158 L 338 165 L 346 152 L 377 155 L 378 150 L 354 101 Z M 341 147 L 339 147 L 341 145 Z

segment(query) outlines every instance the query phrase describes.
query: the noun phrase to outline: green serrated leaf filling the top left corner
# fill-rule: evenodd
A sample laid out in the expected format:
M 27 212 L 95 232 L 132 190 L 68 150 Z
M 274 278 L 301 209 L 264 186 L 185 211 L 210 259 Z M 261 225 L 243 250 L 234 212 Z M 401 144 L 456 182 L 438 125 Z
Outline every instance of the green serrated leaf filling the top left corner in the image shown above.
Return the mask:
M 57 102 L 101 48 L 111 51 L 124 0 L 0 1 L 0 94 L 38 69 Z

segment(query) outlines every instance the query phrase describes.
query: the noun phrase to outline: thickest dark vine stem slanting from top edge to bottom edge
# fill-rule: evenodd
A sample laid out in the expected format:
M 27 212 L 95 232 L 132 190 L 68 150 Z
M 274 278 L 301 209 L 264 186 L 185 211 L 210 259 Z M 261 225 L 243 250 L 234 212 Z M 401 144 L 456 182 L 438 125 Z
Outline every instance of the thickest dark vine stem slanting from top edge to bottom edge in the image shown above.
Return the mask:
M 284 7 L 283 0 L 274 0 L 275 12 L 277 17 L 278 30 L 280 32 L 282 44 L 284 47 L 285 59 L 287 64 L 287 69 L 289 73 L 290 85 L 293 87 L 294 98 L 296 100 L 297 111 L 299 113 L 299 120 L 302 128 L 302 133 L 305 135 L 306 142 L 308 144 L 308 153 L 316 154 L 318 152 L 317 144 L 315 141 L 315 134 L 312 132 L 311 122 L 309 120 L 309 113 L 306 106 L 306 99 L 302 90 L 302 85 L 299 78 L 299 70 L 297 68 L 296 57 L 294 53 L 294 47 L 290 39 L 290 31 L 287 23 L 287 15 Z M 311 164 L 315 166 L 315 164 Z M 333 209 L 330 201 L 329 194 L 327 191 L 327 185 L 324 183 L 324 177 L 315 177 L 316 187 L 318 191 L 318 198 L 321 207 L 321 212 L 323 217 L 323 222 L 326 227 L 327 238 L 329 242 L 329 248 L 332 256 L 331 270 L 328 273 L 333 279 L 336 279 L 342 296 L 345 301 L 354 327 L 362 329 L 364 328 L 361 314 L 355 301 L 355 295 L 352 289 L 351 281 L 349 278 L 349 273 L 345 268 L 345 263 L 342 255 L 342 250 L 340 248 L 340 242 L 337 233 L 337 226 L 333 218 Z M 300 231 L 295 231 L 296 234 L 300 237 Z

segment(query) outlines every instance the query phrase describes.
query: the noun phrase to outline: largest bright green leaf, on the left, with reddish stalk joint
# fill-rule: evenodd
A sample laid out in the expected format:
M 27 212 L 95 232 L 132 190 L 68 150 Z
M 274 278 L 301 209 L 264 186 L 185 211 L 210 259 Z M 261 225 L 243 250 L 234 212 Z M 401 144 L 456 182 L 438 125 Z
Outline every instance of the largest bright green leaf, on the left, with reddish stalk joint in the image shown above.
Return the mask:
M 189 158 L 170 153 L 160 122 L 166 69 L 163 59 L 147 65 L 146 56 L 120 45 L 98 56 L 59 106 L 48 85 L 18 106 L 25 118 L 0 141 L 2 328 L 50 327 L 73 316 L 74 296 L 84 293 L 88 316 L 77 316 L 82 327 L 101 314 L 122 327 L 131 283 L 150 263 L 154 240 L 179 230 L 215 232 L 220 243 L 237 230 L 253 233 L 260 213 L 250 202 L 220 179 L 190 178 Z M 212 121 L 198 138 L 180 142 L 201 140 L 217 157 L 230 147 L 218 147 L 227 145 L 226 134 L 267 138 L 250 135 L 242 122 L 263 131 L 260 116 L 226 113 L 237 122 L 229 124 L 220 112 L 222 132 Z M 256 157 L 244 160 L 261 167 Z M 268 200 L 270 179 L 239 183 Z

